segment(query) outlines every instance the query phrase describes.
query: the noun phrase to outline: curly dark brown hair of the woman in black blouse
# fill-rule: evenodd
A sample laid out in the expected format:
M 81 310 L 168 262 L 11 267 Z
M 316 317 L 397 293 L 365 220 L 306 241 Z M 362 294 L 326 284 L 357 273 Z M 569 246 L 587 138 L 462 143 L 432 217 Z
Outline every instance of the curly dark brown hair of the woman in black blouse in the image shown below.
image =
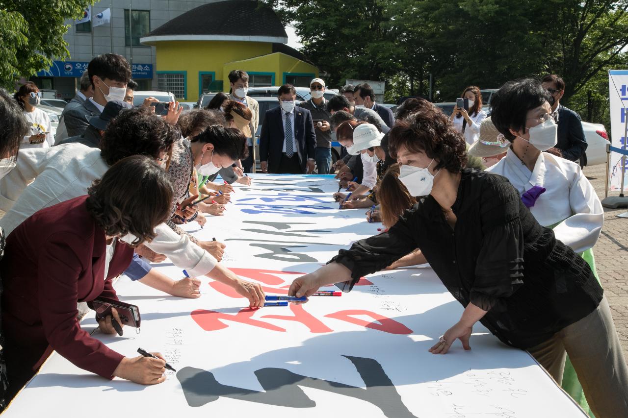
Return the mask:
M 423 151 L 438 160 L 435 169 L 458 173 L 467 161 L 467 142 L 440 109 L 432 106 L 397 121 L 388 132 L 389 151 L 397 158 L 400 147 L 416 153 Z

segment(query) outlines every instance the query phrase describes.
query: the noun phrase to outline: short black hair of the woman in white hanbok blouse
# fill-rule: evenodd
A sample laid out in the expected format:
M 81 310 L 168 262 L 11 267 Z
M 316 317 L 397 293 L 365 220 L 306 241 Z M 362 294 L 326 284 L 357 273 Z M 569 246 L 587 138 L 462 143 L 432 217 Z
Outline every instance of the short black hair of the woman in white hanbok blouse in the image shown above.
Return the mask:
M 490 119 L 499 133 L 514 141 L 513 131 L 526 131 L 526 115 L 552 97 L 538 78 L 519 78 L 504 83 L 490 99 Z

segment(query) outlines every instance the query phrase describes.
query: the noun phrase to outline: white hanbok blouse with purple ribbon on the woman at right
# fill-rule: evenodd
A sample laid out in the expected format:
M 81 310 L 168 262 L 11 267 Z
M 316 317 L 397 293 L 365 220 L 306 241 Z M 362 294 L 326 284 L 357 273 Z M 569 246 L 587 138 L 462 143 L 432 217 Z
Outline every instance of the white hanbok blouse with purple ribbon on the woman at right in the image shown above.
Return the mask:
M 519 195 L 534 186 L 544 187 L 546 191 L 529 210 L 543 227 L 558 223 L 556 239 L 575 252 L 588 250 L 597 242 L 604 209 L 578 164 L 541 153 L 530 171 L 509 148 L 506 157 L 486 171 L 506 177 Z

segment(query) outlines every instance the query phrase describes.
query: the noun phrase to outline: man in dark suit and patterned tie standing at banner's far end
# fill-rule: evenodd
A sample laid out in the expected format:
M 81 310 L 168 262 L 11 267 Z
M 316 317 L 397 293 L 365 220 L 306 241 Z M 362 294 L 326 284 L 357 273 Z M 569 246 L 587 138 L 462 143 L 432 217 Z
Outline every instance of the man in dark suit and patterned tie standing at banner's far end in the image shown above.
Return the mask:
M 279 107 L 266 111 L 259 137 L 259 165 L 264 173 L 312 173 L 316 133 L 310 110 L 295 105 L 291 84 L 279 87 Z

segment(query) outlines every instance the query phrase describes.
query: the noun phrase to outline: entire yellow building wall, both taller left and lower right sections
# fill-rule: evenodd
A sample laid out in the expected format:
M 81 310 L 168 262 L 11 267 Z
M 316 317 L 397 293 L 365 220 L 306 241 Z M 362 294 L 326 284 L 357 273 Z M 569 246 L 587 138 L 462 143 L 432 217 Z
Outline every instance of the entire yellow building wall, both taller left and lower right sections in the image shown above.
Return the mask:
M 158 72 L 187 72 L 187 102 L 198 99 L 199 72 L 215 72 L 215 80 L 223 80 L 225 92 L 229 91 L 227 76 L 231 70 L 273 73 L 275 85 L 283 84 L 283 73 L 313 73 L 318 77 L 318 68 L 290 55 L 272 53 L 273 45 L 268 42 L 159 41 L 154 45 Z

